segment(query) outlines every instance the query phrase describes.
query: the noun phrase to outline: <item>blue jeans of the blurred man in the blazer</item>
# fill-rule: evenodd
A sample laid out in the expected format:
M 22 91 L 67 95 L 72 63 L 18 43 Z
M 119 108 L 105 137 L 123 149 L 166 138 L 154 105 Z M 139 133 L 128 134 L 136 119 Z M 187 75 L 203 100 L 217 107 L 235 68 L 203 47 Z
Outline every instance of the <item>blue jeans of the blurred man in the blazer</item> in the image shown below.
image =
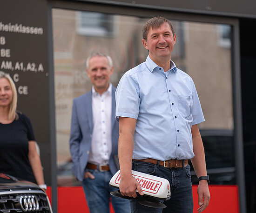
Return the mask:
M 87 169 L 95 179 L 86 178 L 82 181 L 83 190 L 86 196 L 90 213 L 109 213 L 109 198 L 115 213 L 130 213 L 129 200 L 117 198 L 110 195 L 110 192 L 118 189 L 109 186 L 112 177 L 111 173 Z

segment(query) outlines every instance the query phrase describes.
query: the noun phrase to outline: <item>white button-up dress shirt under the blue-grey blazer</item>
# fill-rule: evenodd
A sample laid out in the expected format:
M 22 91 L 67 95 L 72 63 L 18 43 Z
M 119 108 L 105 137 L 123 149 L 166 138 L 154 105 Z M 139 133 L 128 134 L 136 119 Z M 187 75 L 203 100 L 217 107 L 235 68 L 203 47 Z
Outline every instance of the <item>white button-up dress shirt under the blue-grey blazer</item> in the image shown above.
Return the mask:
M 112 151 L 111 110 L 112 84 L 99 94 L 92 88 L 93 135 L 88 162 L 107 165 Z

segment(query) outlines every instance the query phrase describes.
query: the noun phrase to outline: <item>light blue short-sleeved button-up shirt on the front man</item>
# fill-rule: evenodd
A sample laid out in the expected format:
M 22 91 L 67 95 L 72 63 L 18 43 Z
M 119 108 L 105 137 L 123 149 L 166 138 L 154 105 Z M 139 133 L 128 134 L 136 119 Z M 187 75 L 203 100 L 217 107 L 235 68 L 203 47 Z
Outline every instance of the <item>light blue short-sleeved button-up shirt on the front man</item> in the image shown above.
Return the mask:
M 191 77 L 175 66 L 164 73 L 150 57 L 126 72 L 116 89 L 116 120 L 137 120 L 133 159 L 191 159 L 191 126 L 204 121 Z

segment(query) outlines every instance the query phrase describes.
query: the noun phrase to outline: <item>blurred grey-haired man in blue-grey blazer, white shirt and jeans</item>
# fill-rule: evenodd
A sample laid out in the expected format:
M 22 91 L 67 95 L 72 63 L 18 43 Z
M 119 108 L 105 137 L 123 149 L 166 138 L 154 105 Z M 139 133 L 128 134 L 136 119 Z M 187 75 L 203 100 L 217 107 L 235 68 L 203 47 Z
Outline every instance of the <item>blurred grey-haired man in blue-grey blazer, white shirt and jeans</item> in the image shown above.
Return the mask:
M 109 213 L 109 198 L 115 213 L 130 213 L 128 200 L 110 195 L 116 189 L 109 180 L 117 172 L 118 123 L 115 121 L 115 87 L 109 83 L 112 59 L 94 53 L 86 61 L 93 87 L 74 99 L 70 153 L 73 172 L 81 181 L 90 213 Z

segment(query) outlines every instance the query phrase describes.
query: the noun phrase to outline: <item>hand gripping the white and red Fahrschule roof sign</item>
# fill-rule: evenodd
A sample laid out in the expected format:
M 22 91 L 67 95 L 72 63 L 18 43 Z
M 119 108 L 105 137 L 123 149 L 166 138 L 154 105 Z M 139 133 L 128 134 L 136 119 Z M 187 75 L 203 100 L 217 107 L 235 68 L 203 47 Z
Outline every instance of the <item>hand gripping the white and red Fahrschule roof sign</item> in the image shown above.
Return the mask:
M 128 196 L 133 198 L 137 197 L 137 193 L 135 192 L 136 189 L 138 190 L 138 193 L 140 195 L 144 194 L 140 184 L 138 183 L 137 180 L 135 180 L 133 176 L 126 176 L 121 178 L 119 189 L 120 189 L 121 195 L 123 196 Z

